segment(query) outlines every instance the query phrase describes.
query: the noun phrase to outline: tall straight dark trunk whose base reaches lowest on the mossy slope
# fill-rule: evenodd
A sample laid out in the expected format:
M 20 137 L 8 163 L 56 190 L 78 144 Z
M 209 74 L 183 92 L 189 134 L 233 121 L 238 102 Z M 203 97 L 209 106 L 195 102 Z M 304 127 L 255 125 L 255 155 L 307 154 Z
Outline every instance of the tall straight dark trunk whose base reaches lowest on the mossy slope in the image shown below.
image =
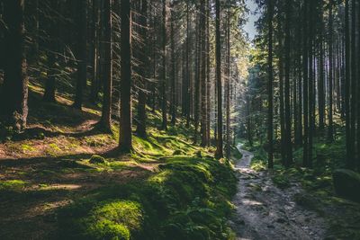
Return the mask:
M 119 147 L 122 152 L 130 152 L 132 149 L 130 26 L 130 0 L 121 0 L 121 120 Z

